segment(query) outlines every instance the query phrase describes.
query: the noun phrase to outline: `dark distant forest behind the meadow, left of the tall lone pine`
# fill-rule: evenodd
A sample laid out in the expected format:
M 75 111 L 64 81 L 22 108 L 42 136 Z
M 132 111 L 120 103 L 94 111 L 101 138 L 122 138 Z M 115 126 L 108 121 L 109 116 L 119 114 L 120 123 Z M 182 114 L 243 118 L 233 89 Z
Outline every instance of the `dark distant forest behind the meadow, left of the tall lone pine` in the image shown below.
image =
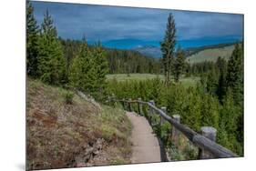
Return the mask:
M 78 47 L 83 44 L 79 40 L 64 40 L 60 38 L 63 45 L 64 55 L 67 60 L 67 70 L 73 58 L 77 55 Z M 88 48 L 94 48 L 88 45 Z M 129 74 L 129 73 L 160 73 L 160 61 L 152 57 L 141 55 L 133 50 L 120 50 L 104 48 L 108 60 L 109 74 Z

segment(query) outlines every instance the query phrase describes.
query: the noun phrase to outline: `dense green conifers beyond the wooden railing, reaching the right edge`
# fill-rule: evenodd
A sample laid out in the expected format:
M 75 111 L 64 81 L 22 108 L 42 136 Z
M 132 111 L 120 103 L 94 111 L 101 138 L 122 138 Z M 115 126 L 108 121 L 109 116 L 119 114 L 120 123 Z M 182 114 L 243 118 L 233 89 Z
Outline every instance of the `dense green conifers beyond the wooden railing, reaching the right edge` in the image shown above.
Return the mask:
M 154 99 L 167 106 L 169 115 L 179 114 L 181 122 L 200 131 L 200 126 L 218 130 L 222 146 L 243 155 L 243 47 L 236 45 L 230 60 L 219 58 L 201 76 L 196 86 L 166 85 L 159 78 L 147 81 L 108 81 L 108 94 L 118 98 Z

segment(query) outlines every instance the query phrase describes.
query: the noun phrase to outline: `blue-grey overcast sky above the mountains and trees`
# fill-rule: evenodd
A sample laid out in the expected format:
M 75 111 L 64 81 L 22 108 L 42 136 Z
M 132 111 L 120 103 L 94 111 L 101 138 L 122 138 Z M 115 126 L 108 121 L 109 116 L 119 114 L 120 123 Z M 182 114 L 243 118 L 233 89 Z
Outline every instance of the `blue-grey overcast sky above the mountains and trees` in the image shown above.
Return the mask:
M 243 36 L 243 15 L 45 2 L 33 5 L 37 22 L 41 24 L 48 9 L 63 38 L 86 35 L 89 41 L 160 41 L 169 13 L 175 17 L 179 40 Z

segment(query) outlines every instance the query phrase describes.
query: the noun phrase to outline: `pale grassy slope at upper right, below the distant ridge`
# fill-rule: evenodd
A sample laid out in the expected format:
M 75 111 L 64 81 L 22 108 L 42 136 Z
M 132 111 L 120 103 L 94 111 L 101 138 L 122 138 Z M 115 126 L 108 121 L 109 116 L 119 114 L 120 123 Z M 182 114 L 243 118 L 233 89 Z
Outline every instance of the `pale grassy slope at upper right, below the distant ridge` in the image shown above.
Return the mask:
M 202 50 L 196 54 L 189 55 L 187 61 L 190 64 L 200 63 L 204 61 L 216 61 L 219 56 L 229 59 L 232 51 L 234 50 L 234 45 L 228 45 L 219 48 L 209 48 Z

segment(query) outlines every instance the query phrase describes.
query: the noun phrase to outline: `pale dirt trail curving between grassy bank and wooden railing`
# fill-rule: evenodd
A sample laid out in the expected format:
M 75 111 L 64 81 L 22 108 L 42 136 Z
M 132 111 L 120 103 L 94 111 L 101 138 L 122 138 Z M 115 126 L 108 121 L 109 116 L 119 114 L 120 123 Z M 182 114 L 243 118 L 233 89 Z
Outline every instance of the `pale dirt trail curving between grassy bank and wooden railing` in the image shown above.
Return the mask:
M 148 120 L 144 116 L 138 116 L 133 112 L 127 112 L 132 130 L 132 158 L 131 163 L 151 163 L 160 162 L 160 147 L 156 135 L 153 134 Z

